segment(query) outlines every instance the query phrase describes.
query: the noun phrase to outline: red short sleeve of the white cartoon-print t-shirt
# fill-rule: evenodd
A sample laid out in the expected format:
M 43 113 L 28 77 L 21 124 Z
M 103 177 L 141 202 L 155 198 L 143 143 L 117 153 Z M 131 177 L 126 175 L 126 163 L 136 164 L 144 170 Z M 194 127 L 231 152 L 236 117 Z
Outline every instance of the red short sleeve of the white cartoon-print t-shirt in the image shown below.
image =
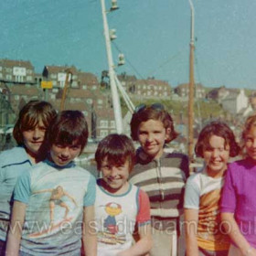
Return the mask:
M 150 223 L 150 204 L 147 194 L 142 190 L 138 190 L 138 204 L 139 210 L 136 221 L 138 226 Z

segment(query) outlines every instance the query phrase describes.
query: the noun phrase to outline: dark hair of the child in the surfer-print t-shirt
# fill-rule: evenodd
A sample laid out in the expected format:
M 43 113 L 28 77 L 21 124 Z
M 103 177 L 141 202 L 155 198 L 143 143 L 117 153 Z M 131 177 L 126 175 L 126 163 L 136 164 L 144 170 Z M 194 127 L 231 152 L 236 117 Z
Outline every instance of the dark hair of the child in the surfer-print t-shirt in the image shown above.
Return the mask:
M 59 112 L 48 128 L 48 144 L 71 145 L 77 144 L 84 149 L 88 140 L 88 126 L 80 111 Z

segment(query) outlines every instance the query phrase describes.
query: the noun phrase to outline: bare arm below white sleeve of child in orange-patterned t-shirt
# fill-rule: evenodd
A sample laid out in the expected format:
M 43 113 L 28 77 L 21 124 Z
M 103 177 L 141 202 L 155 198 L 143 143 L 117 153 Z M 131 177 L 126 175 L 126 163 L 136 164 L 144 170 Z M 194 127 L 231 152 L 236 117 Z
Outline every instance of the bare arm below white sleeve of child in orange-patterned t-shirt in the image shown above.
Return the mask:
M 199 255 L 198 246 L 197 246 L 197 223 L 198 223 L 198 210 L 193 208 L 185 208 L 187 256 Z

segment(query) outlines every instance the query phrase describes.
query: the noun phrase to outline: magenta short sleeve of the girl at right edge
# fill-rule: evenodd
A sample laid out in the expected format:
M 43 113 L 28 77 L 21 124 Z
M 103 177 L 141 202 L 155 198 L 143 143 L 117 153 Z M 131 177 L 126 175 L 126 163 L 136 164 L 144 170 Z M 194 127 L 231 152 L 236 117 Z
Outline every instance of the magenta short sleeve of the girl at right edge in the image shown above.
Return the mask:
M 232 171 L 228 167 L 225 183 L 221 195 L 220 211 L 221 212 L 235 212 L 237 197 L 235 187 L 233 185 Z

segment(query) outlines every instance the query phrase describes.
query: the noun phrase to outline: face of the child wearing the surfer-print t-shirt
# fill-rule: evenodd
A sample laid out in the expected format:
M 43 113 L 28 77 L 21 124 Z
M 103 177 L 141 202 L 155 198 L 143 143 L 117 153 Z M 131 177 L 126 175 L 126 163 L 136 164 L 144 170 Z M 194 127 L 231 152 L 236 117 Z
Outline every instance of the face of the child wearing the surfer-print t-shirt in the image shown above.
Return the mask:
M 81 145 L 73 144 L 52 144 L 50 156 L 52 161 L 59 166 L 68 165 L 78 155 L 80 155 Z

